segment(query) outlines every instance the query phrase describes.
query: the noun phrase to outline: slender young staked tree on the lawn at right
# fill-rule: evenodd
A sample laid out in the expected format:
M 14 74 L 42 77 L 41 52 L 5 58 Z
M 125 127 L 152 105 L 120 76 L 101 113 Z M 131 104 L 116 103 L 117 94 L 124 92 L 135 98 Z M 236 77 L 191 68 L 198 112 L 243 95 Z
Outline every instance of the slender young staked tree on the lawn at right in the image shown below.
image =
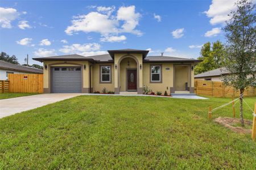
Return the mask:
M 224 66 L 229 75 L 224 83 L 240 90 L 240 117 L 243 125 L 243 92 L 249 86 L 255 86 L 256 79 L 256 29 L 255 4 L 248 0 L 236 3 L 237 10 L 230 12 L 230 20 L 224 27 L 226 37 L 226 55 Z

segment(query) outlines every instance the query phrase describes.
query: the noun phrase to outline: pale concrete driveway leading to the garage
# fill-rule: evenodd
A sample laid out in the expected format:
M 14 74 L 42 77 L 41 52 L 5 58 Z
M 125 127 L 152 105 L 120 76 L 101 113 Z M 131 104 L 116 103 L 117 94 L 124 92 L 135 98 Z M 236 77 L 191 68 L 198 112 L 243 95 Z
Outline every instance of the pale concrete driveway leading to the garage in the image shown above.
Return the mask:
M 28 111 L 81 94 L 40 94 L 0 100 L 0 118 Z

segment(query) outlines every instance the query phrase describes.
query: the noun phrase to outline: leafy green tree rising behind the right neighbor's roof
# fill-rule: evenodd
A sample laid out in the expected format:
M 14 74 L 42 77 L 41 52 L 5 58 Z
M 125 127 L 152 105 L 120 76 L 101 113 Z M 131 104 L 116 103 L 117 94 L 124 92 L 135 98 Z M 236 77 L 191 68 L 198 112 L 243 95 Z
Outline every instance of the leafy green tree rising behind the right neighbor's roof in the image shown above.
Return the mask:
M 203 61 L 196 65 L 195 74 L 221 67 L 224 52 L 224 45 L 221 41 L 213 42 L 212 46 L 210 42 L 205 43 L 201 48 L 200 57 L 197 58 Z

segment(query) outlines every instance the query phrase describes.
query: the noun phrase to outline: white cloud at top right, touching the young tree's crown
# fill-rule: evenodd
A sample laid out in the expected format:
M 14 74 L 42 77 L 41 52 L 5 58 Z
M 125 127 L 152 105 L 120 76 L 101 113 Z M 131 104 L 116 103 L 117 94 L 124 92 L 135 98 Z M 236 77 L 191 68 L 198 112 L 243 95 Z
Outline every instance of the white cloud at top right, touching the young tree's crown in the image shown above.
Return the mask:
M 237 0 L 212 0 L 209 10 L 204 11 L 204 13 L 211 18 L 210 24 L 224 24 L 225 21 L 230 18 L 228 16 L 230 11 L 236 9 L 236 6 L 234 5 L 235 2 L 237 2 Z

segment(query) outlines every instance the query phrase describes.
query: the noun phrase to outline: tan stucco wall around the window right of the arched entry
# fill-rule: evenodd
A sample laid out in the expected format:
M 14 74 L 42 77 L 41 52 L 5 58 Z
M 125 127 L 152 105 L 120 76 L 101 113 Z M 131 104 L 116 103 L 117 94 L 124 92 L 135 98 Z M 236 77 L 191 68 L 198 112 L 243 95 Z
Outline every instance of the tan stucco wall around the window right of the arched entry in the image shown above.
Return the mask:
M 168 94 L 170 94 L 170 87 L 174 86 L 173 64 L 172 63 L 156 63 L 156 65 L 162 65 L 162 83 L 150 83 L 150 71 L 151 71 L 150 65 L 154 65 L 154 64 L 144 63 L 143 65 L 143 85 L 149 86 L 149 88 L 154 92 L 160 91 L 163 94 L 164 91 L 167 91 Z

